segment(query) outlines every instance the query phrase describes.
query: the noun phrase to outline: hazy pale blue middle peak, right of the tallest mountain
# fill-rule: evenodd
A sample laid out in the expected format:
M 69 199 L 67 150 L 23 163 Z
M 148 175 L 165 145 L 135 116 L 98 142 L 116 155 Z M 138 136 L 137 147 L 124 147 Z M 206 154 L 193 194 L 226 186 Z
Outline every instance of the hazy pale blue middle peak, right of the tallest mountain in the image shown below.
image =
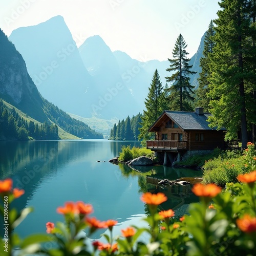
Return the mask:
M 137 113 L 141 105 L 124 83 L 119 63 L 103 39 L 98 35 L 87 38 L 79 52 L 95 83 L 87 90 L 92 115 L 111 119 Z

